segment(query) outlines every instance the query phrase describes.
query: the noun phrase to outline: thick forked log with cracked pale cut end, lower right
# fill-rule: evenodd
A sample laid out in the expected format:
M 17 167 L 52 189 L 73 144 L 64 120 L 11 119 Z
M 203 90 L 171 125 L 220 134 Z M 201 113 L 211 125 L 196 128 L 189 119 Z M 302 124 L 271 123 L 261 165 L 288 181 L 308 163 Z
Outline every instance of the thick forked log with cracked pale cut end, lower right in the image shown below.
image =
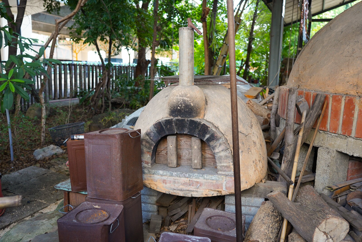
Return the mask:
M 279 191 L 270 193 L 268 198 L 307 241 L 339 242 L 349 231 L 348 222 L 310 185 L 299 189 L 298 203 L 292 203 Z

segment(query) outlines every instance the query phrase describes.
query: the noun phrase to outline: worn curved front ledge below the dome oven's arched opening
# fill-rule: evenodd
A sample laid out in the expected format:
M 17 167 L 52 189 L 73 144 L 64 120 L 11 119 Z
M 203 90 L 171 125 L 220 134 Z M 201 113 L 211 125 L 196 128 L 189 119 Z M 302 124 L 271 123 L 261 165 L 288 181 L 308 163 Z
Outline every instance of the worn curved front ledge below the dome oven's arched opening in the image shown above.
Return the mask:
M 165 164 L 143 167 L 143 184 L 160 192 L 185 197 L 209 197 L 234 193 L 234 177 L 217 174 L 216 168 L 195 169 Z

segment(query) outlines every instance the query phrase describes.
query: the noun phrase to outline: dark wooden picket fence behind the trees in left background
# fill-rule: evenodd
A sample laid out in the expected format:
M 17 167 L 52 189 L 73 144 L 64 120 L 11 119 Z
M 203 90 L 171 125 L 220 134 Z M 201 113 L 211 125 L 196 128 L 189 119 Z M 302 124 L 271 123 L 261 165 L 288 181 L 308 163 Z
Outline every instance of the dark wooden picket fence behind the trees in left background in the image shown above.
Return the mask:
M 111 70 L 111 77 L 126 75 L 130 79 L 134 79 L 136 65 L 114 64 Z M 147 68 L 149 72 L 149 68 Z M 54 64 L 54 69 L 51 71 L 50 79 L 44 91 L 45 100 L 48 103 L 50 100 L 68 99 L 76 97 L 80 91 L 92 90 L 98 82 L 102 74 L 102 66 L 99 63 L 84 63 L 74 62 L 62 64 Z M 148 73 L 146 73 L 146 76 Z M 35 77 L 35 89 L 40 88 L 43 75 Z M 113 88 L 113 86 L 111 87 Z M 34 97 L 30 95 L 30 100 L 21 99 L 21 110 L 24 111 L 35 103 Z

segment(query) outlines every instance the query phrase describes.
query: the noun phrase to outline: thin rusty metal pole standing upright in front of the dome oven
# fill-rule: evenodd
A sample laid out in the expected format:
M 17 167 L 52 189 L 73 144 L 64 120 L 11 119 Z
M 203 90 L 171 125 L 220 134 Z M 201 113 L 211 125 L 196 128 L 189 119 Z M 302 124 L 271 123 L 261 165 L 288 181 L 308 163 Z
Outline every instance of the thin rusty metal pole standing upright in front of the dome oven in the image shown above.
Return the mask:
M 227 0 L 228 33 L 234 33 L 233 1 Z M 229 63 L 230 63 L 230 96 L 231 96 L 231 123 L 232 123 L 232 150 L 234 161 L 234 188 L 236 213 L 236 241 L 243 241 L 243 219 L 241 212 L 241 185 L 240 185 L 240 155 L 239 155 L 239 124 L 237 115 L 236 95 L 236 63 L 235 63 L 235 35 L 229 35 Z

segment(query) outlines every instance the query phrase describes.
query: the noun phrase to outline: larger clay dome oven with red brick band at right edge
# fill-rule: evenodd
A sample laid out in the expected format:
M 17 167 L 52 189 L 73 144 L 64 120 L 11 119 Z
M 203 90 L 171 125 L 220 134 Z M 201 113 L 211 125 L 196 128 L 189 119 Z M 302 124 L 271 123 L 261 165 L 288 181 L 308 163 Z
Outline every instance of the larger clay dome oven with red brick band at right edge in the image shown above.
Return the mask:
M 347 9 L 319 32 L 300 52 L 286 86 L 279 93 L 283 128 L 290 87 L 298 87 L 308 104 L 325 93 L 327 109 L 314 146 L 317 154 L 315 188 L 362 176 L 362 3 Z M 296 112 L 295 122 L 300 123 Z M 310 142 L 312 132 L 307 142 Z M 353 156 L 353 157 L 350 157 Z

